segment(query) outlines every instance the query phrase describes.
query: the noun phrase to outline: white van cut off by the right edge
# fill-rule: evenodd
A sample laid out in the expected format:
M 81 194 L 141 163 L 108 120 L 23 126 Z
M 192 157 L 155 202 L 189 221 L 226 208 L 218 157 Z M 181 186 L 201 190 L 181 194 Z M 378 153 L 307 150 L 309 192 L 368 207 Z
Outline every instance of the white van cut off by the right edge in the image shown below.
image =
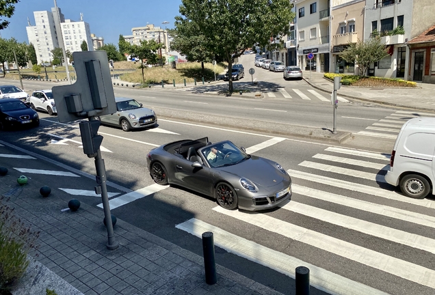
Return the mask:
M 414 199 L 434 194 L 434 154 L 435 117 L 408 120 L 394 143 L 386 182 L 400 186 L 404 195 Z

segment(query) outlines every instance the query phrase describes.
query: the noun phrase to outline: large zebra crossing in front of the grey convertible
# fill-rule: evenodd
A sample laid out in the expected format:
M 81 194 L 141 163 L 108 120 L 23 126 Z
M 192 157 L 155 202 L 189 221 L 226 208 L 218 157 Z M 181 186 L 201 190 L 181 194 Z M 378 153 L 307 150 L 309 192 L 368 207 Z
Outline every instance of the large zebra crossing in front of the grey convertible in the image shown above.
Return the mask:
M 279 210 L 247 213 L 213 208 L 233 219 L 229 223 L 247 224 L 258 233 L 267 231 L 287 247 L 271 247 L 265 238 L 255 238 L 256 234 L 237 236 L 233 233 L 237 229 L 195 218 L 176 228 L 198 238 L 212 231 L 218 247 L 291 278 L 296 267 L 306 266 L 311 270 L 311 285 L 330 294 L 434 294 L 435 265 L 421 263 L 418 257 L 435 258 L 435 236 L 431 234 L 435 201 L 410 199 L 384 184 L 390 156 L 328 147 L 287 170 L 293 180 L 293 197 Z M 305 226 L 292 216 L 322 226 Z M 373 244 L 361 242 L 367 239 Z M 292 251 L 290 245 L 316 250 L 308 257 L 295 256 L 300 251 Z M 325 263 L 328 258 L 342 264 Z M 342 271 L 353 264 L 357 276 Z M 412 289 L 416 285 L 418 292 Z

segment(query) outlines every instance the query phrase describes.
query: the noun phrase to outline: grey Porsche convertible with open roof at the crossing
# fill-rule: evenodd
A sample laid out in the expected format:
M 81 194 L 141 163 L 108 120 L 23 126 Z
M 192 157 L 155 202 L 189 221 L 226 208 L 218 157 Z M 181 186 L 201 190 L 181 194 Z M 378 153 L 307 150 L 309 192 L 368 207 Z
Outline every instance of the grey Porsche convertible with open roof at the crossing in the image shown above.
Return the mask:
M 265 210 L 291 198 L 291 178 L 281 165 L 251 156 L 231 141 L 175 141 L 150 150 L 146 161 L 157 184 L 214 197 L 229 210 Z

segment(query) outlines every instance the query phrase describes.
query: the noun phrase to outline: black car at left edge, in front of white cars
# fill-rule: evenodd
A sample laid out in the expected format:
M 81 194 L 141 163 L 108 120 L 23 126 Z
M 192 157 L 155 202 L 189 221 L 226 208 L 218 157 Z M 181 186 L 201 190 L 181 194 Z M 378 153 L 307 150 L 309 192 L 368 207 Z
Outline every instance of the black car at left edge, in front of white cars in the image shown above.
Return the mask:
M 39 126 L 39 116 L 27 104 L 15 98 L 0 99 L 0 129 Z

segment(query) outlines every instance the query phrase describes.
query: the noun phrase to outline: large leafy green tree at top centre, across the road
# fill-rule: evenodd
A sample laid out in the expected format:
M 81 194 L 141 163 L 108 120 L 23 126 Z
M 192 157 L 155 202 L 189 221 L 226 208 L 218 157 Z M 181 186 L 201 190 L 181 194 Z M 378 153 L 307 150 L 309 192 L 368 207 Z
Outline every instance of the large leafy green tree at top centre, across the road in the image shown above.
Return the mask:
M 295 17 L 289 0 L 182 0 L 180 21 L 192 22 L 204 36 L 208 51 L 228 61 L 243 54 L 254 43 L 262 46 L 271 36 L 285 36 Z M 233 92 L 230 75 L 229 91 Z

